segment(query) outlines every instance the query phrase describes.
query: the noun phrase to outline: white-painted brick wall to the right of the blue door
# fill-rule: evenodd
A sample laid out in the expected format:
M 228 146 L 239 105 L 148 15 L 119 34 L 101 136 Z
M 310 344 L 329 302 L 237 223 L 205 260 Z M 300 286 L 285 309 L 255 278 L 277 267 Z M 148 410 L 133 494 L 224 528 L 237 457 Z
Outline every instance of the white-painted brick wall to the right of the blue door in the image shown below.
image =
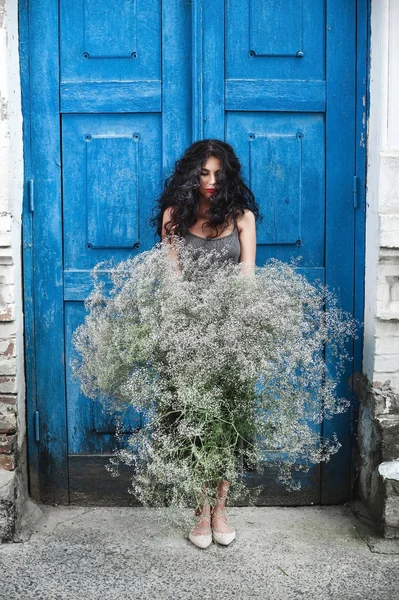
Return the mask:
M 399 391 L 399 2 L 371 10 L 364 371 Z

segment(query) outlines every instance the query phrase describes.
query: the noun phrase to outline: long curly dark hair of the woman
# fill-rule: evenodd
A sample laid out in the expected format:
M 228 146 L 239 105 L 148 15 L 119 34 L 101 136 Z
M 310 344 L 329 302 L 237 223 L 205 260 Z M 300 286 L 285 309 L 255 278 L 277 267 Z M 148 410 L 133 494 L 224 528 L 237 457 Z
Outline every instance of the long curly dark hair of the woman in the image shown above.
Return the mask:
M 206 224 L 215 231 L 214 236 L 220 235 L 228 227 L 231 219 L 236 222 L 238 213 L 244 214 L 244 209 L 254 213 L 255 220 L 262 219 L 254 194 L 245 185 L 241 176 L 241 164 L 232 146 L 217 139 L 205 139 L 194 142 L 176 161 L 174 170 L 166 178 L 164 189 L 153 207 L 155 216 L 149 222 L 156 227 L 159 237 L 162 236 L 163 213 L 169 206 L 171 219 L 165 223 L 166 235 L 173 228 L 174 235 L 184 237 L 188 229 L 197 221 L 199 211 L 200 174 L 206 160 L 210 156 L 219 158 L 222 169 L 218 175 L 215 193 L 210 197 L 210 209 Z

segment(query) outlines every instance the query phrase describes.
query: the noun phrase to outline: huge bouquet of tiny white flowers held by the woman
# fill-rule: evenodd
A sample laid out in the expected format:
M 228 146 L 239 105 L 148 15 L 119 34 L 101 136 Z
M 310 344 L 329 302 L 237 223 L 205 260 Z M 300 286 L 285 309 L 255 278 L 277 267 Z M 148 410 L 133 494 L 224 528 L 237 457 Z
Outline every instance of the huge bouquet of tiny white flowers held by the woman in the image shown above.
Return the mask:
M 244 275 L 216 250 L 175 244 L 180 271 L 166 242 L 92 270 L 73 372 L 89 398 L 111 410 L 131 403 L 145 417 L 110 464 L 132 465 L 130 491 L 145 506 L 198 505 L 220 479 L 231 482 L 232 502 L 253 502 L 259 490 L 245 474 L 268 466 L 298 489 L 293 470 L 341 446 L 315 424 L 349 406 L 335 390 L 355 320 L 293 263 L 270 260 Z

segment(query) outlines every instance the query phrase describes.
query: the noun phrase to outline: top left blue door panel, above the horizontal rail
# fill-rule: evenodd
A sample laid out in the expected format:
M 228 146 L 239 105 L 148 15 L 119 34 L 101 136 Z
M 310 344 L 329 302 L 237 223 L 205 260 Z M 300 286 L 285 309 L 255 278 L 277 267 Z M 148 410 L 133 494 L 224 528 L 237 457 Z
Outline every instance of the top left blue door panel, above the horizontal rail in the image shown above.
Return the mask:
M 161 79 L 158 0 L 60 2 L 62 82 Z

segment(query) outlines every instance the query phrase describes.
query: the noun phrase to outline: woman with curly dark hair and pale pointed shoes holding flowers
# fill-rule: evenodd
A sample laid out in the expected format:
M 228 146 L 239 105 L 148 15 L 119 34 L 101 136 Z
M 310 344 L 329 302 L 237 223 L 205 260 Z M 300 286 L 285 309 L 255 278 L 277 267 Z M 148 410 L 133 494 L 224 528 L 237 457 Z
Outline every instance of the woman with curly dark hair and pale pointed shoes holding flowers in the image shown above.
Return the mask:
M 161 239 L 171 244 L 176 270 L 180 269 L 173 236 L 195 248 L 223 248 L 223 260 L 241 263 L 241 273 L 253 275 L 258 218 L 258 206 L 242 180 L 233 148 L 217 139 L 205 139 L 193 143 L 176 161 L 151 223 Z M 211 544 L 212 534 L 223 545 L 235 538 L 224 512 L 229 485 L 225 479 L 217 482 L 213 510 L 204 502 L 197 511 L 198 521 L 189 539 L 199 548 Z

